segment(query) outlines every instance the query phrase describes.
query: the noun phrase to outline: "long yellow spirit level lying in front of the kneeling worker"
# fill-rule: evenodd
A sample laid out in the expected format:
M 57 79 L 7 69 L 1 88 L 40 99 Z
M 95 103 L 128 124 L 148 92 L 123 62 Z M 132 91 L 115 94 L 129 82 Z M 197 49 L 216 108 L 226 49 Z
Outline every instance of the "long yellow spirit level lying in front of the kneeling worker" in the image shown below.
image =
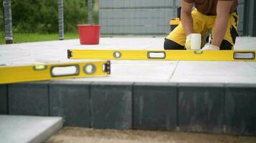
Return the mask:
M 186 60 L 186 61 L 256 61 L 256 51 L 147 51 L 69 49 L 69 59 L 111 60 Z

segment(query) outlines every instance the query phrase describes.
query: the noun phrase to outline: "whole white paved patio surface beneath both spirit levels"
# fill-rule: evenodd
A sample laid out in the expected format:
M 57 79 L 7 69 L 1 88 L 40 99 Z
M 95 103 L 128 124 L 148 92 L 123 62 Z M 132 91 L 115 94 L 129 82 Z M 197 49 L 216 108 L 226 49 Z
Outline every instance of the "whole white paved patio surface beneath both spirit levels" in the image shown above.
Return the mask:
M 78 39 L 0 45 L 0 64 L 81 61 L 67 59 L 67 49 L 163 50 L 164 38 L 164 36 L 101 37 L 99 45 L 81 45 Z M 234 47 L 235 49 L 256 49 L 255 41 L 255 37 L 238 37 Z M 68 81 L 256 83 L 255 62 L 111 61 L 111 64 L 109 77 L 68 79 Z M 176 66 L 177 69 L 175 69 Z

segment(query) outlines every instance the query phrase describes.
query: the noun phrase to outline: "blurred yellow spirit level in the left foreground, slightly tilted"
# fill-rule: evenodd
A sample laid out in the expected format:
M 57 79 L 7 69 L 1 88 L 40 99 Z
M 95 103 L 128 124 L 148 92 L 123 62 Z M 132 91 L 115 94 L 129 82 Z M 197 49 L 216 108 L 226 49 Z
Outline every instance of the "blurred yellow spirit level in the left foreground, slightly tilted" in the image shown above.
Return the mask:
M 110 61 L 0 66 L 0 84 L 96 77 L 107 74 L 110 74 Z

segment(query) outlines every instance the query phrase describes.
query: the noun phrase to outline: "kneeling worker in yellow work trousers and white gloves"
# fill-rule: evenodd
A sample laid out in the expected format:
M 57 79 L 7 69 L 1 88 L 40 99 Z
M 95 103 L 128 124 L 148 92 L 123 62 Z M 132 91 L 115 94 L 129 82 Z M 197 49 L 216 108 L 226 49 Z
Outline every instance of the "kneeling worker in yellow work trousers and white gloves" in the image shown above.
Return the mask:
M 203 50 L 233 49 L 238 36 L 237 5 L 237 0 L 181 0 L 181 23 L 165 38 L 164 48 L 189 50 L 194 33 L 201 34 L 202 48 L 211 32 L 211 44 Z

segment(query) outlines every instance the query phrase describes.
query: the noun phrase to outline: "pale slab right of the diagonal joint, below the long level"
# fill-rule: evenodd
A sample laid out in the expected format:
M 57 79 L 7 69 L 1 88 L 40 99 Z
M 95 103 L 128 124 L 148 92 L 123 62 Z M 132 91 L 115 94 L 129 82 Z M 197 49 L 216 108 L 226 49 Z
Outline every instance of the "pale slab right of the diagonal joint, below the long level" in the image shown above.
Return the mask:
M 256 84 L 255 64 L 250 64 L 243 61 L 179 61 L 170 82 Z

